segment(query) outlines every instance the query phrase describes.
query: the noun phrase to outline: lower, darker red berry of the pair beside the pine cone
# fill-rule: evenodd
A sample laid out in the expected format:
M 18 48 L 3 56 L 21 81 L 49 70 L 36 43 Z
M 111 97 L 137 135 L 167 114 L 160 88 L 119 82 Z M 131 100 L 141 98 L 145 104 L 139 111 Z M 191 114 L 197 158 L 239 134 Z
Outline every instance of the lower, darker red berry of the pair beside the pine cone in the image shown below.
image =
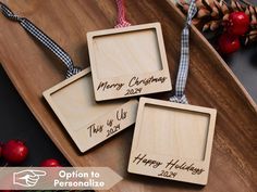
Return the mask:
M 238 37 L 231 36 L 229 34 L 222 34 L 219 38 L 219 50 L 221 53 L 229 54 L 240 49 Z

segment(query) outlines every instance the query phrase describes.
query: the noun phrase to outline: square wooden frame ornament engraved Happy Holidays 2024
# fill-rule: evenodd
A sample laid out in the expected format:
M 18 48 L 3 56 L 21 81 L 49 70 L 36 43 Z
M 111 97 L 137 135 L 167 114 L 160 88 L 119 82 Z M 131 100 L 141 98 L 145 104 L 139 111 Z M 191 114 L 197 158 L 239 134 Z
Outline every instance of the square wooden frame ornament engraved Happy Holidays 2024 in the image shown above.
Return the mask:
M 128 171 L 207 184 L 217 111 L 142 98 Z

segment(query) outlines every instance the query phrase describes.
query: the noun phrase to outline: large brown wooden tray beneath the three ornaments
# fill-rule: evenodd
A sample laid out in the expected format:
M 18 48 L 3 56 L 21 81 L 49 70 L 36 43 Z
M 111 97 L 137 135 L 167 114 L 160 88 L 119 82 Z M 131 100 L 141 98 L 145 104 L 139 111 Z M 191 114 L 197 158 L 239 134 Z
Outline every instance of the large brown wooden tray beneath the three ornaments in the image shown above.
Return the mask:
M 88 66 L 86 33 L 111 28 L 114 0 L 12 0 L 13 11 L 28 17 L 60 43 L 82 67 Z M 28 3 L 29 2 L 29 3 Z M 171 2 L 126 0 L 133 24 L 160 22 L 171 72 L 175 81 L 180 59 L 180 35 L 184 18 Z M 254 192 L 257 189 L 257 107 L 245 89 L 199 31 L 191 36 L 191 71 L 186 94 L 195 105 L 218 110 L 205 188 L 176 181 L 127 174 L 133 127 L 93 149 L 76 150 L 61 123 L 42 98 L 42 91 L 64 79 L 64 67 L 17 24 L 0 16 L 0 62 L 42 128 L 73 166 L 109 166 L 124 180 L 109 191 Z M 167 100 L 170 93 L 155 95 Z

